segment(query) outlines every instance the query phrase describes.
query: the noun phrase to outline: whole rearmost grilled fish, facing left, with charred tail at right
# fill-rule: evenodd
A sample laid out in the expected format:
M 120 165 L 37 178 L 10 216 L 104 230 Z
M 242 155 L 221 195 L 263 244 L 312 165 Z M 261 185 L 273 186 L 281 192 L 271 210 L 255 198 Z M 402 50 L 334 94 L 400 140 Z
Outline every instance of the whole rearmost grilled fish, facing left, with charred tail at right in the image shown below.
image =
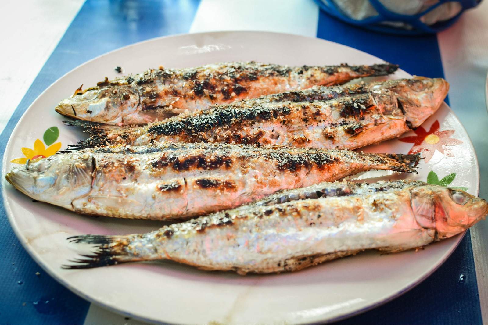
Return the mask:
M 185 110 L 206 109 L 262 95 L 333 85 L 367 76 L 385 76 L 398 65 L 300 66 L 224 62 L 186 69 L 151 69 L 77 90 L 56 111 L 86 121 L 141 125 Z

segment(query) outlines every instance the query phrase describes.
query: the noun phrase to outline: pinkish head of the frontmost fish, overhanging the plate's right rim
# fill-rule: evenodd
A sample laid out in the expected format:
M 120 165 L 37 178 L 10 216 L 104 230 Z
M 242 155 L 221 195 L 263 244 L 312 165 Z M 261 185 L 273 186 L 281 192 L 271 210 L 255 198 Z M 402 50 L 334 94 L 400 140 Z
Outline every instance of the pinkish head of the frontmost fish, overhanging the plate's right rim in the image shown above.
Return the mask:
M 488 203 L 465 191 L 426 184 L 410 190 L 417 223 L 435 229 L 437 238 L 452 237 L 488 214 Z

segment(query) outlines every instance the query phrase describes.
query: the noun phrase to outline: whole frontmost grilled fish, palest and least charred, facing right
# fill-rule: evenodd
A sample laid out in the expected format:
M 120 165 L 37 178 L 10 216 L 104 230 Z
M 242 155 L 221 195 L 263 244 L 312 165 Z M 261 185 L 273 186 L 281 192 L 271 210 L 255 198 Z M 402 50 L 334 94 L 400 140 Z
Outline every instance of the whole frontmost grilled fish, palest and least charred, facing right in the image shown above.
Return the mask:
M 293 191 L 302 197 L 265 199 L 146 234 L 70 237 L 99 247 L 63 267 L 169 259 L 242 275 L 296 271 L 365 249 L 421 247 L 468 229 L 488 213 L 483 199 L 423 182 L 321 183 Z M 290 199 L 288 192 L 280 195 Z

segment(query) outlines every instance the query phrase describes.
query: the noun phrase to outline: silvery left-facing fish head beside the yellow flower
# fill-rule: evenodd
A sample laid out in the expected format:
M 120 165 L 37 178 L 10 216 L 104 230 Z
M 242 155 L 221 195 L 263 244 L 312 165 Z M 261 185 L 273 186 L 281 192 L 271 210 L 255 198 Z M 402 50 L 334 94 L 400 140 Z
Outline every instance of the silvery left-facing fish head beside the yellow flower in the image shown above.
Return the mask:
M 62 154 L 27 161 L 5 178 L 35 200 L 69 208 L 74 199 L 90 191 L 92 171 L 91 154 Z

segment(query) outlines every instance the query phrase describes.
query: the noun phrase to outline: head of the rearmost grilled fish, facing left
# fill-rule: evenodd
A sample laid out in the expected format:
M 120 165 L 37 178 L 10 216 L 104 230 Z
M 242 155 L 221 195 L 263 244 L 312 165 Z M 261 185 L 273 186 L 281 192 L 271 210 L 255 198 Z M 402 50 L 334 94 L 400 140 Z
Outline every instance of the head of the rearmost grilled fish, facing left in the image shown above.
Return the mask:
M 61 115 L 70 118 L 118 124 L 124 116 L 137 110 L 139 93 L 129 84 L 88 88 L 62 100 L 56 107 Z

